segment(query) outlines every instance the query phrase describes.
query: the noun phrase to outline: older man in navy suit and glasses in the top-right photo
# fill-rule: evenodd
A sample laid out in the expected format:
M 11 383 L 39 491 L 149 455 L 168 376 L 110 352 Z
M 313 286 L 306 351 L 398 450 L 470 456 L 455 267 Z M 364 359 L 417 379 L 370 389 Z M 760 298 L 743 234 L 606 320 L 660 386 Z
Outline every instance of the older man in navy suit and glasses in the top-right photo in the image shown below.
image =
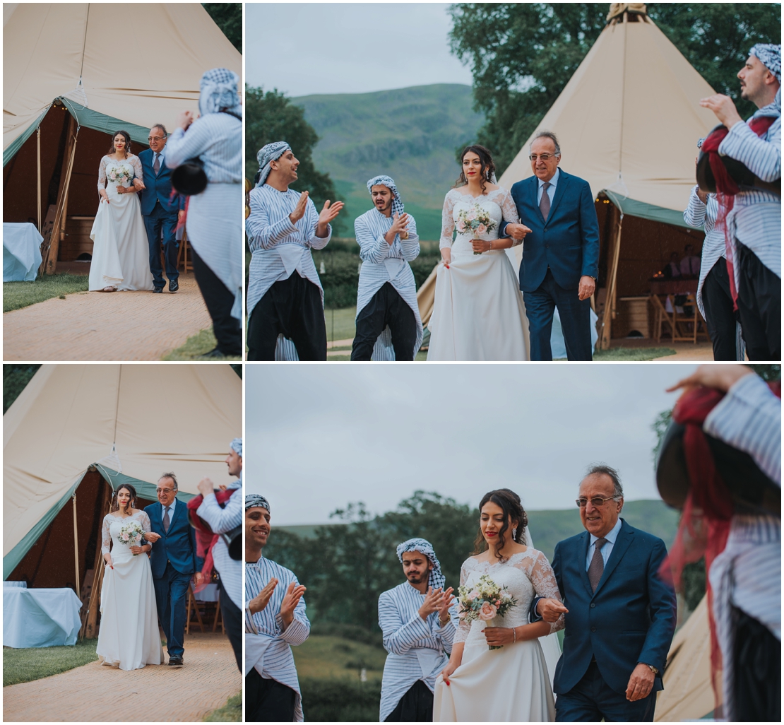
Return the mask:
M 561 147 L 554 133 L 534 138 L 534 175 L 511 188 L 523 224 L 531 228 L 523 244 L 520 289 L 528 316 L 532 360 L 552 360 L 550 332 L 558 308 L 570 360 L 590 360 L 590 297 L 599 263 L 599 222 L 588 182 L 558 168 Z M 522 239 L 520 224 L 501 234 Z

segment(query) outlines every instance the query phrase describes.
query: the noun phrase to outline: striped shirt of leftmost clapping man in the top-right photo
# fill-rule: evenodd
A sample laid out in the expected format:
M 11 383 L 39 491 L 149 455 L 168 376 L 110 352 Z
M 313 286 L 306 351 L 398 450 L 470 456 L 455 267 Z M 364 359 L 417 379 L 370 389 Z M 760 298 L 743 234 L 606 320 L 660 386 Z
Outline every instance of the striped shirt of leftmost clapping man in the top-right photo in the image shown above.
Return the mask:
M 245 220 L 248 244 L 252 253 L 248 282 L 248 316 L 275 282 L 289 279 L 296 271 L 324 290 L 318 279 L 311 249 L 323 250 L 332 237 L 332 227 L 327 235 L 316 236 L 318 212 L 313 199 L 307 200 L 305 215 L 292 224 L 289 214 L 296 209 L 299 191 L 278 191 L 270 184 L 263 184 L 250 192 L 250 216 Z

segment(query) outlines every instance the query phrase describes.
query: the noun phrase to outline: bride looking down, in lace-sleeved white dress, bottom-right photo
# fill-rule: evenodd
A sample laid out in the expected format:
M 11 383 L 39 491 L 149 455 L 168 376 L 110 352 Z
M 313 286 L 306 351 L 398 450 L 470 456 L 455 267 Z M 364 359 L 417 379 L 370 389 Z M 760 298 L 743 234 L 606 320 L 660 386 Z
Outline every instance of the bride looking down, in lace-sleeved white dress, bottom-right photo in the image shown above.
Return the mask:
M 463 563 L 461 588 L 473 587 L 486 575 L 517 602 L 488 622 L 461 620 L 452 656 L 436 680 L 433 720 L 551 722 L 555 702 L 539 637 L 563 628 L 563 615 L 552 625 L 527 622 L 535 596 L 561 600 L 555 574 L 542 552 L 523 543 L 528 518 L 514 491 L 490 491 L 479 510 L 480 553 Z M 490 645 L 501 649 L 490 650 Z

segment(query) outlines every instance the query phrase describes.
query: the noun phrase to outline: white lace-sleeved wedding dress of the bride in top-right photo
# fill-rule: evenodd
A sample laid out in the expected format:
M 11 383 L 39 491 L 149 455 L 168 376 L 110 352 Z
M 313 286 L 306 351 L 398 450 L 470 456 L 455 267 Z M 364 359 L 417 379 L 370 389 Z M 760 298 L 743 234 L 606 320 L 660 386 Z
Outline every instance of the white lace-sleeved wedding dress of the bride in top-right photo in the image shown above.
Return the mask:
M 459 213 L 480 206 L 495 221 L 484 234 L 458 231 Z M 519 223 L 508 191 L 497 188 L 474 199 L 452 189 L 442 215 L 441 244 L 452 262 L 438 265 L 428 360 L 528 360 L 528 319 L 517 275 L 505 250 L 474 254 L 471 239 L 498 239 L 502 220 Z M 515 245 L 522 242 L 514 242 Z

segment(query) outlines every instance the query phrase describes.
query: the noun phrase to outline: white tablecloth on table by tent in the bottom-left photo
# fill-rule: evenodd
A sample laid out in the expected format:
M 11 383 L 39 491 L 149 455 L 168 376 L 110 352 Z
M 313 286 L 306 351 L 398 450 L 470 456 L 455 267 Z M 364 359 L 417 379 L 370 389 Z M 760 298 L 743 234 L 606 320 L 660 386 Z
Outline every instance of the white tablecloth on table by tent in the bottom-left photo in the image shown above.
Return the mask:
M 3 647 L 76 644 L 81 608 L 73 589 L 3 587 Z

